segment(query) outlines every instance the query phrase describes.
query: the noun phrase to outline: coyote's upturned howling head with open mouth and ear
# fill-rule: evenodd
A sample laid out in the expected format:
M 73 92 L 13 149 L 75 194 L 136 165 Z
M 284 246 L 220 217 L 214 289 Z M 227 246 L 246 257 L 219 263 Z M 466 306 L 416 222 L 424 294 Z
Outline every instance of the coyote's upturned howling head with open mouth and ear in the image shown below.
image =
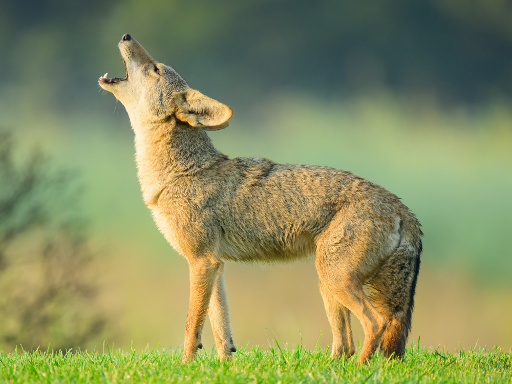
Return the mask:
M 227 105 L 189 88 L 174 69 L 153 59 L 132 36 L 123 35 L 119 50 L 126 76 L 107 78 L 105 73 L 98 81 L 121 101 L 132 126 L 173 119 L 208 131 L 228 125 L 233 111 Z

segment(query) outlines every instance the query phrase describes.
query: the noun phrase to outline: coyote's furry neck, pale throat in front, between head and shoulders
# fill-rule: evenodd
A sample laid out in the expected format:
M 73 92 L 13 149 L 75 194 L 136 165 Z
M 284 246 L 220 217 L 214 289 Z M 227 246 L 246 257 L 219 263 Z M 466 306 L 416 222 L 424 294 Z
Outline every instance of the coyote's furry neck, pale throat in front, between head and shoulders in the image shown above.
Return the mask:
M 192 176 L 220 160 L 201 128 L 174 122 L 135 126 L 138 178 L 146 205 L 156 204 L 161 191 L 180 176 Z

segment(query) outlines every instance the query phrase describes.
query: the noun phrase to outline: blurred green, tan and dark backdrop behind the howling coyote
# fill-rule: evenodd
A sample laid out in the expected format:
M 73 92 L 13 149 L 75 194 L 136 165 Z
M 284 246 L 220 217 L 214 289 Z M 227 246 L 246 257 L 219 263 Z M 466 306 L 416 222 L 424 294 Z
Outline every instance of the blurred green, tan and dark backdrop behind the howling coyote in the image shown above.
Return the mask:
M 39 145 L 77 175 L 94 254 L 83 279 L 105 326 L 63 345 L 182 343 L 187 265 L 142 203 L 123 106 L 97 84 L 124 76 L 117 42 L 130 33 L 231 106 L 228 129 L 210 134 L 225 154 L 347 169 L 416 213 L 415 342 L 512 347 L 510 20 L 507 0 L 1 1 L 0 127 L 19 161 Z M 6 252 L 33 252 L 37 239 Z M 226 280 L 236 344 L 266 345 L 272 331 L 290 345 L 312 348 L 320 332 L 331 343 L 312 262 L 229 264 Z M 58 329 L 24 347 L 58 345 Z

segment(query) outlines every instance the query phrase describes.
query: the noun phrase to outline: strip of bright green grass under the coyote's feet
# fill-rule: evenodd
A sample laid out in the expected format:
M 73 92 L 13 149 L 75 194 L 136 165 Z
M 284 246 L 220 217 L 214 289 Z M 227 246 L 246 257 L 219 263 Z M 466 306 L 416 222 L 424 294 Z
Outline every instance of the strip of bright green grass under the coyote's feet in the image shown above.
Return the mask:
M 202 352 L 181 364 L 179 350 L 0 352 L 0 380 L 7 382 L 510 382 L 512 353 L 409 349 L 402 361 L 380 355 L 359 367 L 355 357 L 333 360 L 329 350 L 241 348 L 230 361 Z

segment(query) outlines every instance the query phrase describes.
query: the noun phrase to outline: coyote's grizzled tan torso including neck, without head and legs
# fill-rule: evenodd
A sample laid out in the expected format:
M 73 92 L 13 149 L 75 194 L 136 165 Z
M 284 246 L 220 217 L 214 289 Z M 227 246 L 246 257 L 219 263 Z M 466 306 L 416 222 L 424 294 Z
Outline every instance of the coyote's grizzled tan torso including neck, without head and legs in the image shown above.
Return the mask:
M 338 228 L 346 232 L 343 238 L 350 239 L 354 225 L 369 227 L 366 242 L 380 261 L 398 246 L 400 224 L 411 216 L 395 195 L 350 172 L 229 159 L 204 131 L 191 134 L 190 127 L 153 129 L 142 137 L 137 132 L 144 202 L 167 241 L 185 257 L 211 252 L 219 261 L 268 263 L 308 257 L 337 215 L 345 222 Z M 151 161 L 166 156 L 164 164 Z M 355 218 L 357 223 L 350 223 Z M 372 239 L 375 232 L 385 240 Z

